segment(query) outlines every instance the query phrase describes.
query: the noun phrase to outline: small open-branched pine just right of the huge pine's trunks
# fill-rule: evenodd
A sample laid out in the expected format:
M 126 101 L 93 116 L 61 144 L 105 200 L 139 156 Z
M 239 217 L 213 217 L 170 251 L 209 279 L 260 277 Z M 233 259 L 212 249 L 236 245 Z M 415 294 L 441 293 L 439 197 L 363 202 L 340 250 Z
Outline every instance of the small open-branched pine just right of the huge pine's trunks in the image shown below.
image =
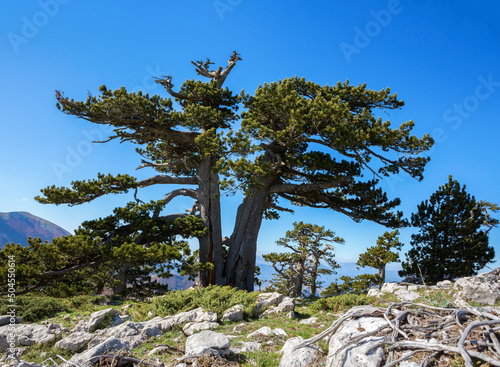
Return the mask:
M 318 225 L 296 222 L 293 227 L 292 231 L 287 231 L 286 236 L 276 242 L 291 252 L 273 252 L 263 257 L 277 273 L 273 281 L 275 289 L 298 297 L 306 285 L 309 286 L 309 293 L 315 295 L 320 284 L 318 277 L 321 274 L 333 274 L 339 267 L 333 253 L 335 248 L 330 243 L 344 243 L 344 240 Z M 325 261 L 330 268 L 320 268 L 321 261 Z

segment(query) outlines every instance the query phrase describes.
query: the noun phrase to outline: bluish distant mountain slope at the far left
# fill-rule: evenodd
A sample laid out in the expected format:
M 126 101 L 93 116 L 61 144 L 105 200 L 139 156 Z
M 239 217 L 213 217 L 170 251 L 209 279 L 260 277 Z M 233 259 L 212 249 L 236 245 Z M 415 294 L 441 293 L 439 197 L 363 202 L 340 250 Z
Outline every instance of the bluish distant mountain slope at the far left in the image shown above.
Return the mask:
M 71 233 L 58 225 L 28 212 L 0 213 L 0 247 L 14 242 L 22 246 L 28 244 L 28 237 L 40 237 L 50 241 Z

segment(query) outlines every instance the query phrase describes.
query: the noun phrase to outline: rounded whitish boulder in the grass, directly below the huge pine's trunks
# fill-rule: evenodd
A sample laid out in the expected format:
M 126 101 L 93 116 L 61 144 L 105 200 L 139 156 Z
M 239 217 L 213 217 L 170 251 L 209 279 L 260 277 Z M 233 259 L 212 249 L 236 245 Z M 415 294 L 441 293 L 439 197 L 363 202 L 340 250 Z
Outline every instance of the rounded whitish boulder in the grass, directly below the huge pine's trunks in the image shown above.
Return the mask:
M 186 353 L 184 358 L 196 358 L 206 352 L 214 352 L 216 355 L 225 355 L 231 341 L 224 334 L 211 330 L 203 330 L 198 334 L 191 335 L 186 340 Z

